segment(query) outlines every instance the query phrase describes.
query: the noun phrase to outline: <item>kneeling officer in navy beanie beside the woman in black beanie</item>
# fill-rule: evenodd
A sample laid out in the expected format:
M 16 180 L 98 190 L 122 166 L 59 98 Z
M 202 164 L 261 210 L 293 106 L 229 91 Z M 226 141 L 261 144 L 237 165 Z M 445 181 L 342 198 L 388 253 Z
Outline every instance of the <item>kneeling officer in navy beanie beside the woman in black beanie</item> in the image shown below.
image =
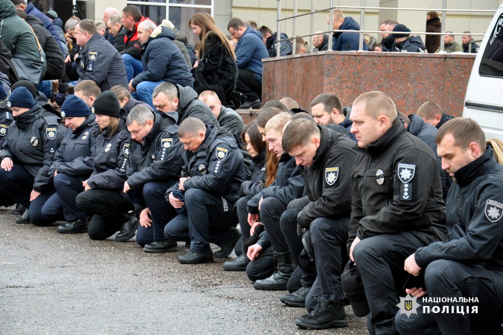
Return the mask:
M 69 129 L 49 168 L 56 193 L 42 207 L 42 215 L 50 221 L 68 221 L 58 227 L 60 233 L 83 233 L 87 232 L 87 214 L 76 206 L 75 198 L 84 190 L 82 182 L 93 172 L 92 154 L 99 127 L 88 105 L 74 95 L 64 101 L 61 116 Z

